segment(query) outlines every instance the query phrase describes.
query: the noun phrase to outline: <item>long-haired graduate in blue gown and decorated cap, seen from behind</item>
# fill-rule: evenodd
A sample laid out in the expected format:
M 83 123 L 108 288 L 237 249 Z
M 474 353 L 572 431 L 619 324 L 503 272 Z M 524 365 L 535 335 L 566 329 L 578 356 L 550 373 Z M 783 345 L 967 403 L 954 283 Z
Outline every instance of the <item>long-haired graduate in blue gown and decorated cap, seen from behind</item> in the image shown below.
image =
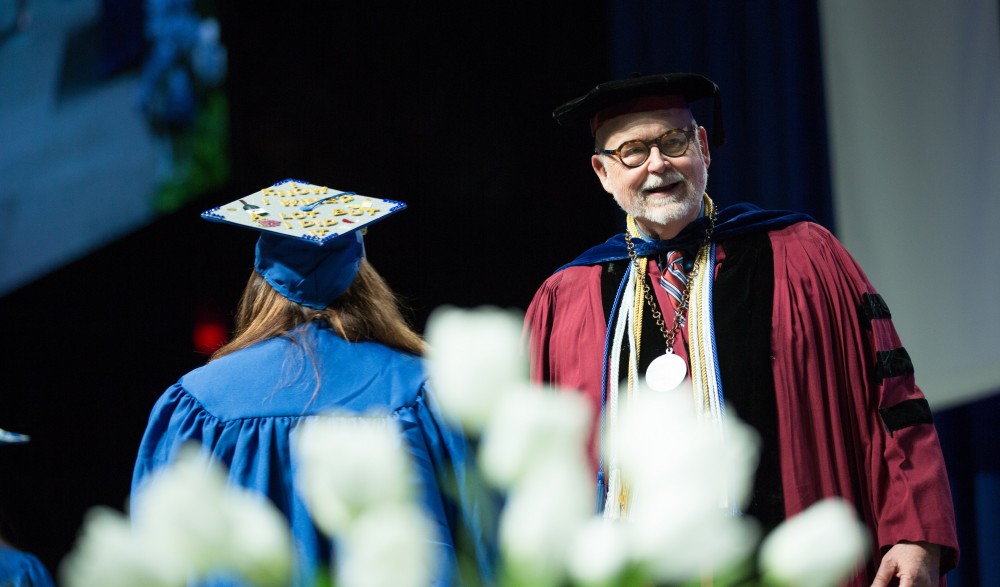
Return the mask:
M 265 203 L 280 199 L 284 183 L 262 190 L 263 197 L 254 194 L 256 203 L 250 197 L 238 200 L 252 206 L 239 213 L 261 226 L 283 228 L 267 222 Z M 310 184 L 293 183 L 296 189 L 302 185 Z M 341 195 L 315 209 L 351 201 Z M 335 208 L 326 212 L 337 214 Z M 460 541 L 474 545 L 467 558 L 482 573 L 477 579 L 488 582 L 483 528 L 468 515 L 485 511 L 465 483 L 471 449 L 438 412 L 422 364 L 424 342 L 365 259 L 361 235 L 354 230 L 318 245 L 270 230 L 261 234 L 235 336 L 156 402 L 139 448 L 132 494 L 171 463 L 182 444 L 197 441 L 229 467 L 231 484 L 268 496 L 287 516 L 296 542 L 295 584 L 310 585 L 335 561 L 333 545 L 310 519 L 296 486 L 293 431 L 333 411 L 388 412 L 412 457 L 416 494 L 437 526 L 440 572 L 434 584 L 458 581 Z

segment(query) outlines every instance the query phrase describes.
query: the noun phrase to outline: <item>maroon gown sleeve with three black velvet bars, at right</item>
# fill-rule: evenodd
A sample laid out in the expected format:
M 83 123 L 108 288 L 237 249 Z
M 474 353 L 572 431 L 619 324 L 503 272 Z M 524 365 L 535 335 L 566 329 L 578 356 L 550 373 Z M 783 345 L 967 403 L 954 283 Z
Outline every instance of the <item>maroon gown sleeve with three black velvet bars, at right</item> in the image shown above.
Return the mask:
M 900 541 L 926 541 L 942 546 L 943 575 L 958 559 L 951 491 L 888 306 L 818 225 L 774 233 L 772 244 L 787 514 L 831 494 L 849 497 L 874 530 L 876 560 Z

